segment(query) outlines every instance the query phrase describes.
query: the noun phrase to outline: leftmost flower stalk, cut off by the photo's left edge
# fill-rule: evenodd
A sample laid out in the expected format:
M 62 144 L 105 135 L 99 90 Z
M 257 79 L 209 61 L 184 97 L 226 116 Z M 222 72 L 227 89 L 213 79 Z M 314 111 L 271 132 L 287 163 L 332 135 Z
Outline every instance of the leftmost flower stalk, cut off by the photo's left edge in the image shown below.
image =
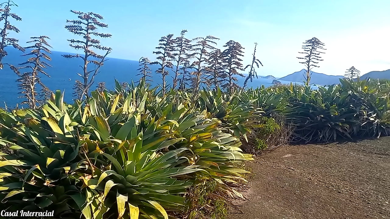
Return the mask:
M 0 69 L 3 69 L 3 65 L 9 65 L 9 67 L 11 67 L 11 69 L 14 72 L 17 72 L 16 68 L 13 65 L 6 64 L 6 63 L 3 64 L 2 63 L 3 58 L 8 55 L 7 51 L 5 51 L 5 48 L 7 48 L 8 46 L 13 46 L 14 48 L 16 48 L 16 49 L 18 49 L 19 51 L 22 51 L 22 52 L 25 51 L 25 48 L 19 46 L 19 44 L 18 44 L 19 40 L 15 39 L 15 38 L 8 37 L 9 31 L 14 31 L 16 33 L 19 33 L 19 29 L 16 28 L 16 26 L 11 25 L 10 19 L 13 18 L 16 21 L 21 21 L 22 20 L 18 15 L 14 14 L 14 13 L 11 13 L 11 7 L 12 6 L 18 7 L 18 5 L 16 5 L 11 0 L 8 0 L 7 2 L 4 2 L 4 3 L 0 4 L 0 13 L 1 13 L 0 21 L 4 22 L 4 25 L 2 25 L 3 28 L 1 29 L 1 32 L 0 32 L 0 37 L 1 37 L 1 42 L 0 42 Z

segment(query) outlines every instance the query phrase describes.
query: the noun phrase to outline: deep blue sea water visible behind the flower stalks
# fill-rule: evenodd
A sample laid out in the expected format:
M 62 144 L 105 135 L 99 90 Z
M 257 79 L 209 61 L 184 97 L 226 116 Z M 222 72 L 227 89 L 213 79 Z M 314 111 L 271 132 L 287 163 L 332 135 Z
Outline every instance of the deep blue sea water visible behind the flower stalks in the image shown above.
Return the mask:
M 4 58 L 3 63 L 17 65 L 27 60 L 27 57 L 20 56 L 23 54 L 20 51 L 10 49 L 8 53 L 9 55 Z M 48 78 L 43 75 L 41 76 L 41 80 L 51 90 L 61 90 L 65 92 L 64 100 L 71 103 L 73 102 L 74 98 L 72 96 L 74 81 L 82 81 L 82 78 L 76 74 L 82 72 L 80 67 L 82 60 L 76 58 L 67 59 L 61 56 L 63 54 L 69 53 L 52 51 L 50 56 L 52 60 L 48 62 L 48 64 L 50 64 L 52 67 L 48 68 L 46 71 L 46 73 L 48 73 L 51 77 Z M 115 78 L 119 82 L 130 83 L 131 81 L 138 81 L 140 79 L 140 76 L 136 76 L 139 73 L 137 71 L 138 68 L 138 61 L 109 58 L 101 67 L 100 73 L 97 74 L 95 83 L 92 85 L 92 88 L 95 88 L 98 82 L 104 81 L 108 89 L 113 89 L 115 86 Z M 151 68 L 154 72 L 154 70 L 157 69 L 157 66 L 155 65 Z M 158 86 L 161 84 L 161 77 L 159 74 L 153 73 L 152 76 L 152 86 Z M 4 108 L 5 104 L 9 107 L 15 107 L 16 104 L 22 101 L 22 99 L 19 98 L 21 95 L 18 94 L 20 90 L 18 90 L 17 83 L 15 82 L 16 79 L 16 74 L 12 72 L 9 67 L 4 66 L 4 69 L 0 70 L 0 107 Z M 69 79 L 71 80 L 69 81 Z M 172 78 L 167 76 L 167 80 L 169 83 L 172 81 Z M 243 85 L 244 80 L 245 78 L 239 78 L 239 84 Z M 261 85 L 268 87 L 272 85 L 272 81 L 272 79 L 255 78 L 252 82 L 248 82 L 248 87 L 260 87 Z M 280 82 L 285 84 L 290 83 L 290 81 Z

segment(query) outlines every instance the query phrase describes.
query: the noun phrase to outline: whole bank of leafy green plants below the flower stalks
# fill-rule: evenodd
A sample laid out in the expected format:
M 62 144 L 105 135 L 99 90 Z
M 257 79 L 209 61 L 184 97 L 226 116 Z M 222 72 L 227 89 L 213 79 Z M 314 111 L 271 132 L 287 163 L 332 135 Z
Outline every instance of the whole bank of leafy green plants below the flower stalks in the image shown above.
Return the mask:
M 237 188 L 249 173 L 242 162 L 253 159 L 242 145 L 272 147 L 287 124 L 294 142 L 388 135 L 389 88 L 345 80 L 319 90 L 203 89 L 193 100 L 117 82 L 115 91 L 72 105 L 57 91 L 39 109 L 0 112 L 2 206 L 57 217 L 221 218 L 227 198 L 242 198 Z M 275 113 L 285 122 L 270 120 Z

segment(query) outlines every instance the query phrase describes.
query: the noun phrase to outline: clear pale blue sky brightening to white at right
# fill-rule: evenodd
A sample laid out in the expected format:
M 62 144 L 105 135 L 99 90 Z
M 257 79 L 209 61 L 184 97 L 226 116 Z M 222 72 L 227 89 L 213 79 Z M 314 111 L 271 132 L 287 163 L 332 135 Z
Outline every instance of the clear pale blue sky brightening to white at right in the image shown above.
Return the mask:
M 355 66 L 361 73 L 390 69 L 390 0 L 14 0 L 23 20 L 12 24 L 21 42 L 47 35 L 55 51 L 73 52 L 64 28 L 69 12 L 104 16 L 112 34 L 102 40 L 113 58 L 138 60 L 152 54 L 161 36 L 188 30 L 187 37 L 213 35 L 218 47 L 229 40 L 245 48 L 251 61 L 254 42 L 264 67 L 260 75 L 282 77 L 304 68 L 297 56 L 302 43 L 317 37 L 327 50 L 313 71 L 343 75 Z M 24 44 L 21 43 L 23 46 Z

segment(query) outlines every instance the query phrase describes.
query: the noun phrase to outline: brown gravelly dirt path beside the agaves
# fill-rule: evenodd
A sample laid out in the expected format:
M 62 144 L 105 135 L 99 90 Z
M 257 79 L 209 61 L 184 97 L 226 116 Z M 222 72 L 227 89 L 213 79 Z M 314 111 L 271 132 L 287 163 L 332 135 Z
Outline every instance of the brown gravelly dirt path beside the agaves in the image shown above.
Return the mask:
M 390 138 L 285 146 L 248 164 L 229 219 L 390 219 Z

